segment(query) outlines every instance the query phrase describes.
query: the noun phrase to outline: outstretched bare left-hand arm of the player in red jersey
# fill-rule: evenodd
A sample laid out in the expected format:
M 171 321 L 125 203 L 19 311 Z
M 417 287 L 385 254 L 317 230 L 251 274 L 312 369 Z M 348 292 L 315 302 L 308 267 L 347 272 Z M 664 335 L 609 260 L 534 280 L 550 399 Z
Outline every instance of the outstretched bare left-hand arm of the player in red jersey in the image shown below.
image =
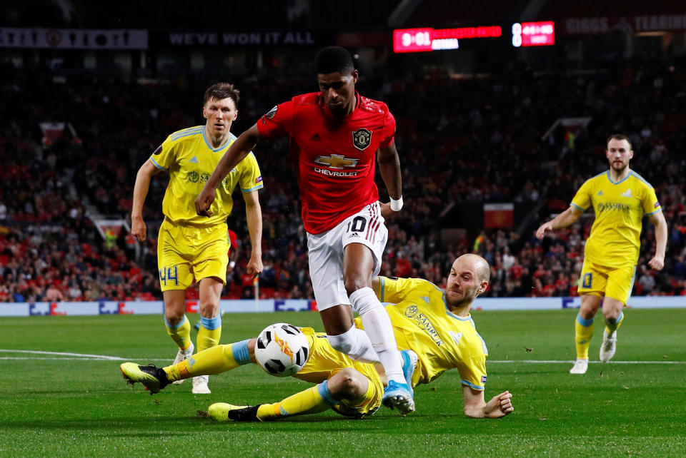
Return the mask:
M 212 215 L 212 212 L 209 211 L 209 207 L 212 205 L 212 202 L 214 202 L 214 198 L 216 197 L 215 191 L 217 190 L 219 183 L 222 183 L 222 180 L 229 175 L 229 172 L 231 172 L 240 161 L 243 161 L 245 156 L 248 156 L 250 151 L 257 145 L 260 138 L 261 136 L 257 129 L 257 124 L 254 124 L 229 146 L 229 150 L 219 161 L 217 168 L 214 169 L 214 172 L 210 175 L 207 183 L 205 183 L 205 187 L 202 188 L 202 192 L 195 200 L 195 213 L 202 216 Z

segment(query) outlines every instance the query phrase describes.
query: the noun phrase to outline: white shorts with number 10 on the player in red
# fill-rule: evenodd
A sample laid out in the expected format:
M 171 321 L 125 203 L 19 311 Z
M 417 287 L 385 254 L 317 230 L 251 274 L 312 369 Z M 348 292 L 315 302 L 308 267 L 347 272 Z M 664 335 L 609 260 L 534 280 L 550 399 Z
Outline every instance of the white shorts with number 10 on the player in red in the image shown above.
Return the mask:
M 307 233 L 309 276 L 317 308 L 325 310 L 335 305 L 350 305 L 343 283 L 343 250 L 347 245 L 362 243 L 372 250 L 374 277 L 381 270 L 387 240 L 388 229 L 378 202 L 370 203 L 325 233 Z

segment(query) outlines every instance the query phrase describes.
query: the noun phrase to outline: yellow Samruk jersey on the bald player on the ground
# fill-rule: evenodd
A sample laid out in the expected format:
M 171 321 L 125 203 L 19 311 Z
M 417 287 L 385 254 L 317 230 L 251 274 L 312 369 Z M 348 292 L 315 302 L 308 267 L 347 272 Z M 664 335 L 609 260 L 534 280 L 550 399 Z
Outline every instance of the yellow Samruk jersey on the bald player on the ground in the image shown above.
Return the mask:
M 457 368 L 463 385 L 484 390 L 486 357 L 484 340 L 471 315 L 459 317 L 448 310 L 444 292 L 419 278 L 379 277 L 379 300 L 386 306 L 400 350 L 414 350 L 419 362 L 412 385 L 429 383 L 443 372 Z M 356 319 L 357 327 L 362 320 Z

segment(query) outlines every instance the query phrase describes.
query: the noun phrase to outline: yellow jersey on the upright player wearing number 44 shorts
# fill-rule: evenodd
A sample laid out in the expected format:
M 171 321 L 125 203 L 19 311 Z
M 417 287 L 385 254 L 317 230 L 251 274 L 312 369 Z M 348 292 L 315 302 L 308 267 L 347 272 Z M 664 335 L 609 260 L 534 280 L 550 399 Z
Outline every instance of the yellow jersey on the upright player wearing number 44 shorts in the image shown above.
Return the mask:
M 217 188 L 212 216 L 195 213 L 195 199 L 217 168 L 219 160 L 236 141 L 234 134 L 219 148 L 212 148 L 205 138 L 205 126 L 195 126 L 172 133 L 150 156 L 160 170 L 169 171 L 169 186 L 164 193 L 162 213 L 177 224 L 207 227 L 224 223 L 234 207 L 231 194 L 237 185 L 244 193 L 264 186 L 257 159 L 249 153 Z

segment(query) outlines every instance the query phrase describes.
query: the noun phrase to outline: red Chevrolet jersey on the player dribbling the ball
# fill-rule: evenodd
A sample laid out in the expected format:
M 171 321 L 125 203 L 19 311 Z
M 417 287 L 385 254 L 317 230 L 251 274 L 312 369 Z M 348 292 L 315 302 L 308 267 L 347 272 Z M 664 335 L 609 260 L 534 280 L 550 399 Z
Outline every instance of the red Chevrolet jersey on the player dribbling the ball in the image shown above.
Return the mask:
M 379 200 L 376 153 L 393 142 L 395 118 L 385 103 L 355 95 L 357 105 L 344 117 L 313 92 L 275 106 L 257 121 L 265 138 L 289 136 L 302 220 L 311 234 L 324 233 Z

